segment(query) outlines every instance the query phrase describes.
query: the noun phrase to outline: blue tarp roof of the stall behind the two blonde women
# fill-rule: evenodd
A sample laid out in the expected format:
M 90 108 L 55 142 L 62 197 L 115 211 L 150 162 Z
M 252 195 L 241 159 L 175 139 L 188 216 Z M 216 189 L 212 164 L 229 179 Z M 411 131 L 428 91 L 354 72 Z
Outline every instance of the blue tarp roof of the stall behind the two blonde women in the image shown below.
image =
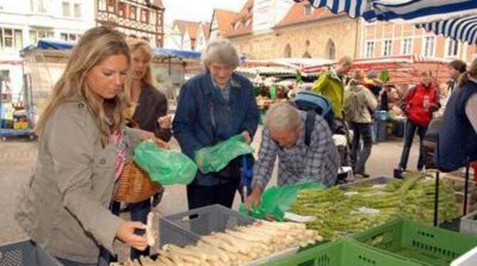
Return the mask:
M 21 53 L 28 53 L 32 50 L 70 50 L 75 46 L 75 43 L 62 40 L 41 39 L 36 46 L 28 46 L 21 50 Z M 193 50 L 176 50 L 165 48 L 154 48 L 154 53 L 162 57 L 170 58 L 200 58 L 201 53 Z

